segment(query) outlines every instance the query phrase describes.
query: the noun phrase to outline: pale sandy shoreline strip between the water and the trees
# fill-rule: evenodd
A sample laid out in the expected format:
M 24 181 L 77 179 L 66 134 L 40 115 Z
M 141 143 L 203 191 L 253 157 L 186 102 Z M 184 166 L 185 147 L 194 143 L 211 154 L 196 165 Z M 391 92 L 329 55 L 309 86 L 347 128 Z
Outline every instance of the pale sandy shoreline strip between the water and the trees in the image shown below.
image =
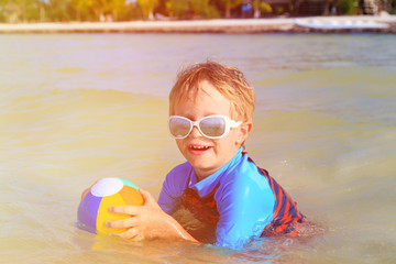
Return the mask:
M 396 33 L 396 15 L 0 23 L 0 33 Z

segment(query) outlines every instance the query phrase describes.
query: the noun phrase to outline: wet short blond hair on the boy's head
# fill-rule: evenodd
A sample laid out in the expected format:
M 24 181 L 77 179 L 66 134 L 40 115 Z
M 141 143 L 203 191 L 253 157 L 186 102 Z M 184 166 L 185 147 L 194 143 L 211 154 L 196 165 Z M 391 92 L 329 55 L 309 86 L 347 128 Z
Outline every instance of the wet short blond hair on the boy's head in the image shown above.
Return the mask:
M 178 73 L 176 84 L 169 94 L 169 114 L 175 114 L 175 106 L 180 101 L 194 98 L 205 80 L 231 101 L 232 119 L 252 121 L 255 96 L 243 73 L 235 67 L 210 61 L 190 65 Z

